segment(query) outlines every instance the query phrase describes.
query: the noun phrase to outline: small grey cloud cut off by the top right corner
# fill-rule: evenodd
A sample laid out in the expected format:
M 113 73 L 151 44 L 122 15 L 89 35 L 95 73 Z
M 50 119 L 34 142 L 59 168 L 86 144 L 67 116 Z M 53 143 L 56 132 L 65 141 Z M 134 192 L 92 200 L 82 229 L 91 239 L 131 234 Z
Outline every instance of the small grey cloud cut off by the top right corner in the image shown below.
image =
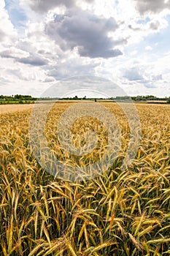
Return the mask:
M 170 8 L 170 2 L 164 0 L 135 0 L 136 9 L 141 13 L 144 12 L 161 12 Z

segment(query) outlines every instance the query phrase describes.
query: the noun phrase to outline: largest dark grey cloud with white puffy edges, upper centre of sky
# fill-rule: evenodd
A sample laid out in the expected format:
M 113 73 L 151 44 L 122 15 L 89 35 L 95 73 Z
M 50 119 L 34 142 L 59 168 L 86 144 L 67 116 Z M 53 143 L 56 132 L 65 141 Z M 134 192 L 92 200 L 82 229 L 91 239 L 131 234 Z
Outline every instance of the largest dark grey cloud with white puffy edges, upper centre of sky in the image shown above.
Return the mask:
M 56 15 L 47 23 L 45 32 L 63 51 L 77 48 L 80 56 L 107 59 L 121 55 L 116 46 L 126 42 L 125 39 L 113 40 L 108 36 L 117 28 L 114 18 L 101 18 L 74 8 L 68 14 Z

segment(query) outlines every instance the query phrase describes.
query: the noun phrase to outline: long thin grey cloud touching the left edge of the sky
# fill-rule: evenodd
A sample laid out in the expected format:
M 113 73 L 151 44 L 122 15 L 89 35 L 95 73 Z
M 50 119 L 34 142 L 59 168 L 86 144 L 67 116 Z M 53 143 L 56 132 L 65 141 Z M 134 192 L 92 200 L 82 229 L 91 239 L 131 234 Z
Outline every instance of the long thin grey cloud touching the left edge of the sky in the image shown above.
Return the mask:
M 44 59 L 42 57 L 37 56 L 36 54 L 30 54 L 28 57 L 19 58 L 16 57 L 14 54 L 12 54 L 12 50 L 4 50 L 0 53 L 1 58 L 6 59 L 14 59 L 17 62 L 23 63 L 23 64 L 29 64 L 32 66 L 44 66 L 48 64 L 47 59 Z

